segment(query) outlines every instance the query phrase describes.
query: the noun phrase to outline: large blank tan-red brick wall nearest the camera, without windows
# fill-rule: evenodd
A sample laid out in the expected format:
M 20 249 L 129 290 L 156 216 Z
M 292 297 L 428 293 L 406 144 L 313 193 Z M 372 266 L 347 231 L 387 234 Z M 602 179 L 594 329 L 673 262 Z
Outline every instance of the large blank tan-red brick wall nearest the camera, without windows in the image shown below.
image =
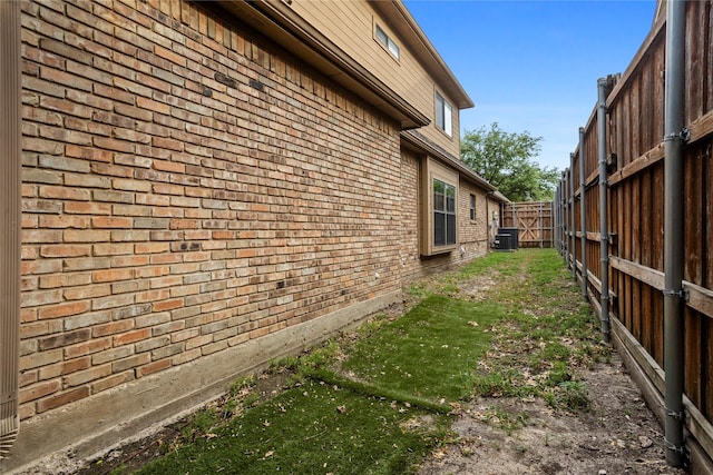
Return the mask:
M 22 4 L 23 419 L 401 285 L 395 123 L 199 8 Z

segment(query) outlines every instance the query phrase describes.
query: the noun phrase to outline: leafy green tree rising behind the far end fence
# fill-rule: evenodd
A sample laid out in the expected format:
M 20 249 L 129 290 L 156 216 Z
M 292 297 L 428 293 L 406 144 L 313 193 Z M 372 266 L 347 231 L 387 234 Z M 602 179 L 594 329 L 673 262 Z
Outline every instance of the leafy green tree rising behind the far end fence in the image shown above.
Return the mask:
M 506 132 L 494 122 L 489 130 L 466 130 L 460 158 L 511 201 L 546 201 L 555 196 L 560 172 L 534 160 L 541 140 L 527 131 Z

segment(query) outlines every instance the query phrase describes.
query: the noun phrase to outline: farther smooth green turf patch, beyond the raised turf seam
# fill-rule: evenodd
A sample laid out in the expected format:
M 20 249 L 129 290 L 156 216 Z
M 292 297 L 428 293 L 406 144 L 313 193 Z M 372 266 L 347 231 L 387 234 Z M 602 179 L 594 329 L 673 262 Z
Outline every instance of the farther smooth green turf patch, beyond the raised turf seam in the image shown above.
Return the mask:
M 470 394 L 475 368 L 490 345 L 488 325 L 501 318 L 498 304 L 430 296 L 360 340 L 341 370 L 395 392 L 457 402 Z

